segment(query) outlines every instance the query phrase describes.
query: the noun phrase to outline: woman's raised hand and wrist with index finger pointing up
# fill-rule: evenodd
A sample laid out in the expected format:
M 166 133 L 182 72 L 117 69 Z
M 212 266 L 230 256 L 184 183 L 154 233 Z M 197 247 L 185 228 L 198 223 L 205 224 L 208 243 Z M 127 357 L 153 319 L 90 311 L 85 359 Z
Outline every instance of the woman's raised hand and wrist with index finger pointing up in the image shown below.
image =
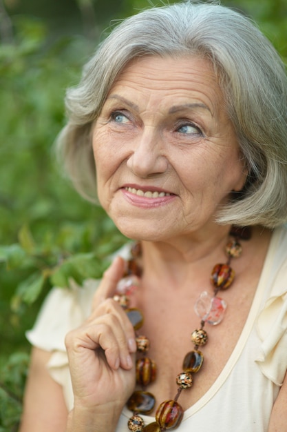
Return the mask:
M 111 298 L 123 271 L 123 259 L 117 257 L 96 291 L 92 315 L 65 340 L 74 391 L 72 417 L 81 413 L 82 418 L 85 413 L 91 430 L 95 421 L 100 429 L 94 430 L 114 430 L 105 426 L 106 420 L 116 426 L 135 386 L 134 328 L 123 308 Z

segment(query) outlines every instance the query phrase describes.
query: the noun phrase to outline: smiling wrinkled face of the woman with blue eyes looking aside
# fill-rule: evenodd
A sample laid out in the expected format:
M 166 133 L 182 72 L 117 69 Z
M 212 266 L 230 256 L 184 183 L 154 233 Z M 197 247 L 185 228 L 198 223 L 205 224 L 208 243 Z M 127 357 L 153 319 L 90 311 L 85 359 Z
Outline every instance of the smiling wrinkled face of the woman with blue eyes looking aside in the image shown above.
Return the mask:
M 98 197 L 130 238 L 204 230 L 246 174 L 208 60 L 143 57 L 125 68 L 93 130 Z

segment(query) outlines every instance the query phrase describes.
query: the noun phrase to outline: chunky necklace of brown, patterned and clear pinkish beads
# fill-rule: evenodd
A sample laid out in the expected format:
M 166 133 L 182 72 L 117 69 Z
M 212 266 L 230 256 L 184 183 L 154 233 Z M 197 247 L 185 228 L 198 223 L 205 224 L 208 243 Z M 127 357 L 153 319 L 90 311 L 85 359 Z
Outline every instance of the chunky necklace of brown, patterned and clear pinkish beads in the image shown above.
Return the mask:
M 190 389 L 193 384 L 193 374 L 200 371 L 204 356 L 199 350 L 208 341 L 208 335 L 204 330 L 205 324 L 213 326 L 220 324 L 224 317 L 226 302 L 217 296 L 220 290 L 226 290 L 233 282 L 235 272 L 231 268 L 231 259 L 240 257 L 242 246 L 240 239 L 248 240 L 251 238 L 249 227 L 233 226 L 229 233 L 231 241 L 226 244 L 225 253 L 227 261 L 225 264 L 216 264 L 211 272 L 211 285 L 213 295 L 203 291 L 195 302 L 195 313 L 200 317 L 200 328 L 191 333 L 193 350 L 185 355 L 182 372 L 176 377 L 178 392 L 173 400 L 165 400 L 156 410 L 156 422 L 145 426 L 145 422 L 140 414 L 149 415 L 156 404 L 155 397 L 145 391 L 148 384 L 156 379 L 156 364 L 146 353 L 149 350 L 149 339 L 145 335 L 138 334 L 139 328 L 143 324 L 142 313 L 137 308 L 129 308 L 129 296 L 140 284 L 142 273 L 136 259 L 140 256 L 140 244 L 131 248 L 131 259 L 127 261 L 127 271 L 118 283 L 114 300 L 125 308 L 125 311 L 134 325 L 136 331 L 137 351 L 140 357 L 136 360 L 136 383 L 142 388 L 141 391 L 134 391 L 127 401 L 127 408 L 133 411 L 133 415 L 128 421 L 128 428 L 133 432 L 162 432 L 167 429 L 177 429 L 183 417 L 182 406 L 178 403 L 178 398 L 183 390 Z

